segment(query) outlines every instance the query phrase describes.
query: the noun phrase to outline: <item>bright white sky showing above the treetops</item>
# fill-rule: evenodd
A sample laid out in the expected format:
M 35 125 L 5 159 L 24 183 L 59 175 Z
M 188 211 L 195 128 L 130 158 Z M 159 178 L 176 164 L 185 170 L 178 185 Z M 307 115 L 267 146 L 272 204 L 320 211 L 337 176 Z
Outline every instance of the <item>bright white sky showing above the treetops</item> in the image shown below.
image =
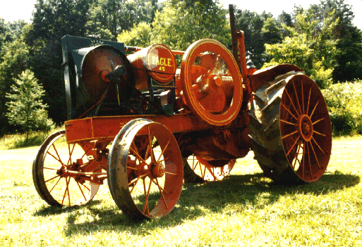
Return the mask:
M 291 13 L 294 5 L 302 6 L 303 8 L 308 8 L 310 4 L 319 4 L 320 0 L 281 0 L 281 1 L 271 1 L 271 0 L 219 0 L 225 8 L 229 8 L 229 4 L 236 4 L 239 9 L 249 11 L 255 11 L 257 13 L 262 13 L 266 11 L 267 13 L 271 12 L 274 18 L 285 11 L 286 13 Z M 37 0 L 8 0 L 2 1 L 0 8 L 0 17 L 4 18 L 5 21 L 13 22 L 14 20 L 23 19 L 30 22 L 32 18 L 32 10 L 34 9 L 34 4 Z M 362 0 L 345 0 L 346 4 L 352 6 L 354 11 L 354 25 L 362 30 L 362 15 L 359 13 L 362 11 Z

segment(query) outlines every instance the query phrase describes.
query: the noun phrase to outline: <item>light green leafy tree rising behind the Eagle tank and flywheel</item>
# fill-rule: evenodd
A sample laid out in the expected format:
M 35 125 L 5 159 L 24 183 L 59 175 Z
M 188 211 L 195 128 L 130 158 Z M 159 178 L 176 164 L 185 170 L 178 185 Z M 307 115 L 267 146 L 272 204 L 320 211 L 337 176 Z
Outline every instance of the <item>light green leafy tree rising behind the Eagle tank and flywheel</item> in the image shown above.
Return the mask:
M 120 34 L 117 40 L 137 46 L 165 44 L 171 49 L 186 50 L 196 40 L 206 38 L 230 43 L 226 11 L 213 1 L 165 1 L 150 27 L 140 23 Z

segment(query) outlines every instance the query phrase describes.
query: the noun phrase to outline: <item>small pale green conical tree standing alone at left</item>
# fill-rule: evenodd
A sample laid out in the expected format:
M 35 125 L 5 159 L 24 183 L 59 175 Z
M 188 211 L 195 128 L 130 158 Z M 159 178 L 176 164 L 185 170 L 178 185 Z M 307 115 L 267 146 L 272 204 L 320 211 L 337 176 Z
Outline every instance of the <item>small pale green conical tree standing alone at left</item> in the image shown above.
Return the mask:
M 21 127 L 26 132 L 26 139 L 31 130 L 52 129 L 53 121 L 48 118 L 47 105 L 41 99 L 44 90 L 30 70 L 25 70 L 11 89 L 11 94 L 6 94 L 10 100 L 6 103 L 9 111 L 6 116 L 11 125 Z

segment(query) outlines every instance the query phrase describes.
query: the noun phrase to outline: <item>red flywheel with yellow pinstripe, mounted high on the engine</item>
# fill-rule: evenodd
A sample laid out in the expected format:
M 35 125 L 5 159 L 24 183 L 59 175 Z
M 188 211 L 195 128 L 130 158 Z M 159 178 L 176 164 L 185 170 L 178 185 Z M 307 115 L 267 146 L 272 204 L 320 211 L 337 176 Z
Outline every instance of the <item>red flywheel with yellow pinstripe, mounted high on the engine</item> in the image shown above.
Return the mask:
M 181 63 L 181 87 L 188 108 L 210 125 L 229 124 L 241 108 L 238 65 L 216 40 L 201 39 L 188 47 Z

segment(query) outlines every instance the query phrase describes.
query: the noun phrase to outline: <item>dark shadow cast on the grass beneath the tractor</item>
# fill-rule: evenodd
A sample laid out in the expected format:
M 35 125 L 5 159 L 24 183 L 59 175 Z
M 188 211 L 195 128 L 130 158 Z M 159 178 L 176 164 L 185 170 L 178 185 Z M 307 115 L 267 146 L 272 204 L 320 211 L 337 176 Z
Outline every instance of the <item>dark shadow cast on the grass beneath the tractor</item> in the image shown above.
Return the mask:
M 131 234 L 146 234 L 152 229 L 174 227 L 184 220 L 193 220 L 206 213 L 218 213 L 228 205 L 238 205 L 243 210 L 246 205 L 264 208 L 278 201 L 281 196 L 295 194 L 313 194 L 315 196 L 329 194 L 333 191 L 354 186 L 360 182 L 357 175 L 344 175 L 339 172 L 325 174 L 318 182 L 302 185 L 279 185 L 258 173 L 254 175 L 229 175 L 222 181 L 204 184 L 183 184 L 179 202 L 169 215 L 162 219 L 135 222 L 113 203 L 109 205 L 101 201 L 92 201 L 83 207 L 76 208 L 43 208 L 37 215 L 68 213 L 68 224 L 64 228 L 67 236 L 73 234 L 89 234 L 98 231 L 127 231 Z M 260 195 L 263 194 L 263 201 Z M 85 208 L 85 209 L 81 209 Z M 89 221 L 77 223 L 87 211 Z M 70 213 L 69 213 L 70 212 Z

